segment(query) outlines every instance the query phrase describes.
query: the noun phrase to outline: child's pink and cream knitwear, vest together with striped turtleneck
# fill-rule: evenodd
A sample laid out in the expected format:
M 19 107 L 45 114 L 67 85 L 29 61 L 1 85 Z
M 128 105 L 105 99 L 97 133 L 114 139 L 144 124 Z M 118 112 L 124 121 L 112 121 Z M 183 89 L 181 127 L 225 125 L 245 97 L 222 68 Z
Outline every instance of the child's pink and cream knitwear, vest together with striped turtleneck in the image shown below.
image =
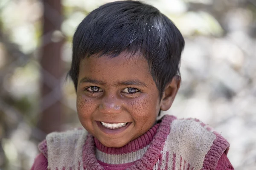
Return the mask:
M 51 133 L 39 145 L 44 154 L 39 157 L 47 158 L 51 170 L 228 170 L 228 147 L 199 120 L 166 115 L 143 136 L 116 149 L 104 147 L 82 129 Z

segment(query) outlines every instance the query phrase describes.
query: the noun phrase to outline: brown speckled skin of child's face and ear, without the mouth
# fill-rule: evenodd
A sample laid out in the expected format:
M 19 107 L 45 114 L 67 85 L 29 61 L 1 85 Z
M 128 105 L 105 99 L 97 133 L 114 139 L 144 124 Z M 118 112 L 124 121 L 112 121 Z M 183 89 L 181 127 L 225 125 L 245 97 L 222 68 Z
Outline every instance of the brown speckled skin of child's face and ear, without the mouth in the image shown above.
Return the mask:
M 160 99 L 144 57 L 91 56 L 79 65 L 77 112 L 83 127 L 106 147 L 122 147 L 146 133 L 160 111 L 167 111 L 180 87 L 174 77 Z M 140 83 L 139 83 L 140 82 Z M 96 121 L 131 122 L 118 134 L 107 134 Z

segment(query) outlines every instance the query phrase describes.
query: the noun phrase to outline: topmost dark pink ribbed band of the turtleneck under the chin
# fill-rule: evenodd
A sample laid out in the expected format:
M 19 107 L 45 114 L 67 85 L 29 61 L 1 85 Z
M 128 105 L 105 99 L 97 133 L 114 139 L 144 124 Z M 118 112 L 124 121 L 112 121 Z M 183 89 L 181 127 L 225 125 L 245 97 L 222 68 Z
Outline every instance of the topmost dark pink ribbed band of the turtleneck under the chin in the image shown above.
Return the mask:
M 159 123 L 151 127 L 145 134 L 134 139 L 123 147 L 106 147 L 102 143 L 99 142 L 98 139 L 94 138 L 94 142 L 96 144 L 96 148 L 106 154 L 124 154 L 131 153 L 143 149 L 146 147 L 154 138 L 154 135 L 157 133 L 157 129 L 159 127 Z

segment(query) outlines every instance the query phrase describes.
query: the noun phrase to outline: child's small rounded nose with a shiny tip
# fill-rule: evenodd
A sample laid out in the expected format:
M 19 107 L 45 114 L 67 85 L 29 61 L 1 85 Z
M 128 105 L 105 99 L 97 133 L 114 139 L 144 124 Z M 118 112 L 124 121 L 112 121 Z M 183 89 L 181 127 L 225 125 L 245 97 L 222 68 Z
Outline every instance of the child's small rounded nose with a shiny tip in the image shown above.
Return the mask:
M 99 105 L 99 111 L 105 114 L 121 113 L 122 102 L 113 95 L 105 96 Z

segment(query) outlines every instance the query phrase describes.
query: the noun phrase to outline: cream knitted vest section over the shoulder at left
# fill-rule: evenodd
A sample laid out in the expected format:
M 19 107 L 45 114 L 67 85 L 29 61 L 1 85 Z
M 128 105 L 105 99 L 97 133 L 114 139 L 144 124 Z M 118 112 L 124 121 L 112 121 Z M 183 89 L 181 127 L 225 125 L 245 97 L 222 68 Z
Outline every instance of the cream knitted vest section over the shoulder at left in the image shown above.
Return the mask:
M 83 128 L 49 133 L 46 139 L 38 145 L 41 153 L 47 158 L 48 167 L 55 169 L 63 166 L 78 166 L 74 164 L 74 161 L 81 161 L 87 134 Z

